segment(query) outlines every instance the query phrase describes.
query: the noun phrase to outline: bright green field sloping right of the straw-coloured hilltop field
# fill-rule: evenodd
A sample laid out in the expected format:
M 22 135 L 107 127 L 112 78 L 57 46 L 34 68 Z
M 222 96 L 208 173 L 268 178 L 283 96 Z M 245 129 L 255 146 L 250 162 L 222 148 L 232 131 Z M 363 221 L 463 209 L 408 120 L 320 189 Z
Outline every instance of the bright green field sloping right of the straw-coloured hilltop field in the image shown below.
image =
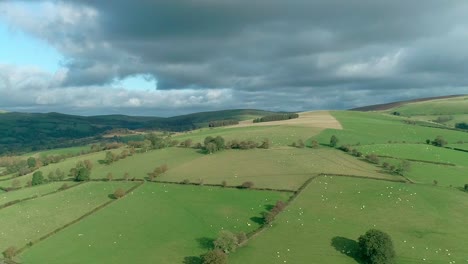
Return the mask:
M 367 145 L 388 141 L 424 143 L 426 139 L 433 140 L 439 135 L 453 144 L 466 139 L 467 136 L 465 132 L 460 131 L 405 124 L 403 122 L 405 118 L 381 113 L 350 111 L 331 113 L 340 121 L 344 129 L 326 129 L 315 136 L 314 138 L 322 144 L 329 144 L 332 135 L 338 137 L 339 145 L 358 143 Z

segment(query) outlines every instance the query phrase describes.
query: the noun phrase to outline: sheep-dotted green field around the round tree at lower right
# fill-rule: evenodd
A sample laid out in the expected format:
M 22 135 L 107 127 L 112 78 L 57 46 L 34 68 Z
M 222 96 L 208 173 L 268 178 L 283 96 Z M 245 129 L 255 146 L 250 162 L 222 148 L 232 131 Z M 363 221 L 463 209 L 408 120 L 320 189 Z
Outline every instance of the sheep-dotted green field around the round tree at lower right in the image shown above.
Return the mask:
M 357 238 L 371 228 L 390 234 L 398 264 L 466 263 L 466 198 L 449 188 L 320 177 L 230 263 L 359 263 Z

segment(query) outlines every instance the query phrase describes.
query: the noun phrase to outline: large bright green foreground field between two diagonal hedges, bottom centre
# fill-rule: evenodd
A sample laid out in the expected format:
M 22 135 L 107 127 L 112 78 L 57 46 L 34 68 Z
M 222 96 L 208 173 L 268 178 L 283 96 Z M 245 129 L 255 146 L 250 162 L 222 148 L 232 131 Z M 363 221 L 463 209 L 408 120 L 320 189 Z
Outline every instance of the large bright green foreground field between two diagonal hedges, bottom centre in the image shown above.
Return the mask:
M 206 252 L 219 231 L 255 230 L 259 224 L 251 218 L 285 199 L 287 194 L 279 192 L 146 183 L 26 250 L 20 260 L 23 264 L 194 263 L 184 258 Z

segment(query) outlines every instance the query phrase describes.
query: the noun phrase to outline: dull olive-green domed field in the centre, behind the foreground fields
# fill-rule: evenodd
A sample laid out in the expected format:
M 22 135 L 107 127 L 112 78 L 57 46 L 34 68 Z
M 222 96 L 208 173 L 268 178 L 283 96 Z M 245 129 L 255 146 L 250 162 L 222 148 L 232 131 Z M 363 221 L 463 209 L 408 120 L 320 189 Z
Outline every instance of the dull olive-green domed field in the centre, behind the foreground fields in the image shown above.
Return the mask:
M 377 178 L 397 178 L 381 174 L 378 168 L 341 151 L 329 148 L 269 150 L 226 150 L 205 155 L 169 169 L 157 180 L 237 186 L 252 181 L 255 187 L 296 190 L 312 175 L 334 173 Z

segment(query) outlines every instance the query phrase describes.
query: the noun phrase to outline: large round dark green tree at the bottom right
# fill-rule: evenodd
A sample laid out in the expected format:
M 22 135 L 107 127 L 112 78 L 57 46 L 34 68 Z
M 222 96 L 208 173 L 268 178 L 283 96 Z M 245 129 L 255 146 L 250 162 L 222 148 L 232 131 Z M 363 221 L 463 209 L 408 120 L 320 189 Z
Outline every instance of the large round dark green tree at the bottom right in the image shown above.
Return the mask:
M 358 239 L 359 252 L 369 264 L 390 264 L 395 259 L 391 237 L 380 230 L 370 229 Z

